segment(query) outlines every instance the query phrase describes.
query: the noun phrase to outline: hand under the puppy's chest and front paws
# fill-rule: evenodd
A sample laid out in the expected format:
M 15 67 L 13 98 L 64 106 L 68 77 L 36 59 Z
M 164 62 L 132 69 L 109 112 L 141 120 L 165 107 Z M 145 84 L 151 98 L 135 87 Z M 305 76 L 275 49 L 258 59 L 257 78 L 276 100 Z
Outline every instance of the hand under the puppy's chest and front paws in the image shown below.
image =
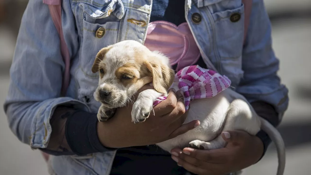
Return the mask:
M 152 87 L 145 86 L 140 92 L 148 88 Z M 199 121 L 192 121 L 183 125 L 188 112 L 185 112 L 182 94 L 175 93 L 174 90 L 170 90 L 166 100 L 154 107 L 155 116 L 150 114 L 145 122 L 134 124 L 131 110 L 132 104 L 129 104 L 119 108 L 108 121 L 98 122 L 97 133 L 104 146 L 123 148 L 156 144 L 183 134 L 200 124 Z

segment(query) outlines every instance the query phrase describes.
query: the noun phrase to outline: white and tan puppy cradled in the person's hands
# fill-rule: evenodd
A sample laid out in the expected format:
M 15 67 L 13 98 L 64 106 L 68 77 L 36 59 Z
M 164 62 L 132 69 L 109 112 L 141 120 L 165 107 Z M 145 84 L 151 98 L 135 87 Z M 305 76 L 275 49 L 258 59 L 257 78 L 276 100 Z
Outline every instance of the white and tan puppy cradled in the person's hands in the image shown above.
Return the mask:
M 151 52 L 144 45 L 126 40 L 105 47 L 96 55 L 92 72 L 99 71 L 99 84 L 94 97 L 102 105 L 98 111 L 99 121 L 108 120 L 118 107 L 132 102 L 132 97 L 146 83 L 153 83 L 154 89 L 141 92 L 132 108 L 132 121 L 143 122 L 152 112 L 157 97 L 167 95 L 170 87 L 178 89 L 174 82 L 174 70 L 169 59 L 159 52 Z M 191 101 L 185 123 L 199 120 L 201 124 L 173 139 L 158 143 L 162 149 L 190 146 L 197 149 L 218 149 L 225 146 L 221 132 L 244 130 L 256 135 L 262 128 L 278 148 L 278 175 L 283 174 L 285 149 L 281 135 L 267 121 L 259 117 L 245 97 L 230 88 L 215 97 Z

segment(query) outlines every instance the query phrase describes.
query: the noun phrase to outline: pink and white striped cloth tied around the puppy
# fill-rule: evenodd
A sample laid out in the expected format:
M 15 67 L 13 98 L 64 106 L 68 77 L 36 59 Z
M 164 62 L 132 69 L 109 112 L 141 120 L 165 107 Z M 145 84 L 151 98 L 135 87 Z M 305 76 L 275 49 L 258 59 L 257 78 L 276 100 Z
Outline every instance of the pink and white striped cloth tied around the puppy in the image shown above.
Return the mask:
M 189 109 L 190 101 L 199 98 L 215 97 L 220 92 L 230 87 L 231 81 L 225 75 L 221 76 L 210 69 L 201 68 L 198 65 L 185 67 L 175 75 L 174 83 L 178 82 L 178 88 L 184 96 L 185 109 Z M 153 106 L 156 106 L 166 97 L 157 98 Z

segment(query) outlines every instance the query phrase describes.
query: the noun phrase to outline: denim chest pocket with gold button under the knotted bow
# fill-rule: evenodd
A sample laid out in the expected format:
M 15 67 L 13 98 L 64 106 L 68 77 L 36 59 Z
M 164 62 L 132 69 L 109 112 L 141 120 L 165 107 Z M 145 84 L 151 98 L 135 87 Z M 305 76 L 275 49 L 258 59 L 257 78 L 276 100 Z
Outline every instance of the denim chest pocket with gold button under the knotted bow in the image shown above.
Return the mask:
M 83 10 L 80 65 L 86 75 L 94 77 L 97 74 L 92 73 L 91 67 L 96 54 L 100 49 L 115 44 L 118 40 L 120 18 L 124 15 L 124 7 L 118 0 L 106 3 L 91 1 L 91 4 L 79 3 L 79 7 Z

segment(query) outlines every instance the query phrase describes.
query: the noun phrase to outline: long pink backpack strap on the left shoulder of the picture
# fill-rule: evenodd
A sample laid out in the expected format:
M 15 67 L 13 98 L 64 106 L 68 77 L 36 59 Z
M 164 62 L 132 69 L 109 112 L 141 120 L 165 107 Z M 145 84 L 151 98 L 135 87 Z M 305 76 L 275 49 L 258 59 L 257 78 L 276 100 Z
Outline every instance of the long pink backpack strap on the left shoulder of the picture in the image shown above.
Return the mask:
M 65 96 L 67 92 L 67 88 L 69 85 L 70 78 L 70 55 L 69 50 L 66 45 L 63 29 L 62 29 L 62 7 L 61 0 L 43 0 L 43 3 L 49 5 L 50 14 L 56 30 L 59 34 L 60 38 L 60 50 L 63 57 L 63 61 L 65 63 L 65 71 L 63 73 L 63 84 L 62 84 L 62 92 L 61 95 Z

